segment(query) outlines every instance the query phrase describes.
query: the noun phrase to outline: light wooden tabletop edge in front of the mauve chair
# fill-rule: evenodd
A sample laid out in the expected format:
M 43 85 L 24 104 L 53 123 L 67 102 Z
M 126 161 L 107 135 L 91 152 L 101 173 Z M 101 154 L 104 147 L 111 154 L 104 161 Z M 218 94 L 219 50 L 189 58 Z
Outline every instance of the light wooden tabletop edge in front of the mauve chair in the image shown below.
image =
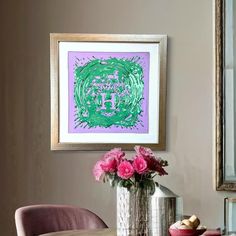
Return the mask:
M 39 236 L 116 236 L 114 229 L 94 229 L 94 230 L 68 230 L 41 234 Z

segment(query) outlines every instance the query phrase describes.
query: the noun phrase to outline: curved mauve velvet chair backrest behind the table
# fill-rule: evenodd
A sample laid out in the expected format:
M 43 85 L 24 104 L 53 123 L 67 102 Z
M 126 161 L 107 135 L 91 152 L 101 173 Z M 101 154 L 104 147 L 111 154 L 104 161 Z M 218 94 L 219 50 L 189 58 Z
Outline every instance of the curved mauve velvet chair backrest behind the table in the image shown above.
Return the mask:
M 18 236 L 74 229 L 107 228 L 95 213 L 68 205 L 32 205 L 21 207 L 15 212 Z

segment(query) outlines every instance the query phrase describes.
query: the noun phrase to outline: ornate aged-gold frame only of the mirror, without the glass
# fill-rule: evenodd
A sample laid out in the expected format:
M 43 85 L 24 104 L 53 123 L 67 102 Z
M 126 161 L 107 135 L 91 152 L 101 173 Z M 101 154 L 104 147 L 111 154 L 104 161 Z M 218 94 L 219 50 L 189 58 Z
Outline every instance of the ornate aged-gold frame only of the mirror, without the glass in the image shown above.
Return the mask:
M 224 17 L 225 0 L 215 1 L 216 190 L 236 191 L 224 169 Z

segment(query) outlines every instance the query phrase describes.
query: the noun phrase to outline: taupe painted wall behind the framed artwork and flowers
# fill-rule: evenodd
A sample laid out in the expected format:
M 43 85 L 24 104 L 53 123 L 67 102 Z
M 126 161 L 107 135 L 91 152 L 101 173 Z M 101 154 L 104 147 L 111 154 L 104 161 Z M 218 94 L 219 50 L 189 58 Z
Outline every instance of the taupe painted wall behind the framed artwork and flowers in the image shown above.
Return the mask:
M 0 235 L 15 235 L 14 211 L 35 203 L 75 204 L 115 226 L 115 191 L 91 175 L 103 152 L 52 152 L 49 33 L 167 34 L 169 176 L 184 212 L 223 225 L 213 187 L 212 0 L 1 1 Z

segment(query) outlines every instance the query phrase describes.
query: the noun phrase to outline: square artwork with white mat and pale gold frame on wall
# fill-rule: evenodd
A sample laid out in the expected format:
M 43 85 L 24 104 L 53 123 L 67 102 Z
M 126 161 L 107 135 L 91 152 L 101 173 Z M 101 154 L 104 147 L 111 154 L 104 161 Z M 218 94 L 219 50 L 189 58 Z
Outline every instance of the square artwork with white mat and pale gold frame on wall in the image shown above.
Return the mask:
M 166 35 L 51 34 L 51 149 L 165 149 Z

